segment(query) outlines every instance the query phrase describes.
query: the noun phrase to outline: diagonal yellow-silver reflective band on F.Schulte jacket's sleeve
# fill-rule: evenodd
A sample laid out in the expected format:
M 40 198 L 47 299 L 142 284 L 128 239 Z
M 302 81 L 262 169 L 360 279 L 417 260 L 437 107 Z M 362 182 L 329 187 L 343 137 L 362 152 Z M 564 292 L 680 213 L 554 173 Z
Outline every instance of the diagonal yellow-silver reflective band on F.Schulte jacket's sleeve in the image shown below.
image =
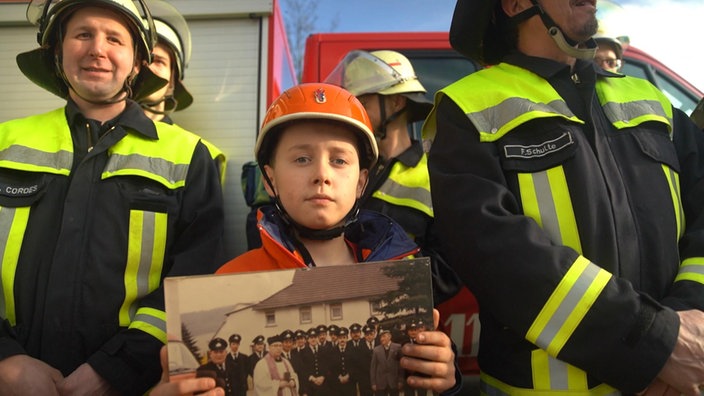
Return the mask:
M 610 273 L 579 256 L 535 318 L 526 339 L 557 356 L 610 279 Z

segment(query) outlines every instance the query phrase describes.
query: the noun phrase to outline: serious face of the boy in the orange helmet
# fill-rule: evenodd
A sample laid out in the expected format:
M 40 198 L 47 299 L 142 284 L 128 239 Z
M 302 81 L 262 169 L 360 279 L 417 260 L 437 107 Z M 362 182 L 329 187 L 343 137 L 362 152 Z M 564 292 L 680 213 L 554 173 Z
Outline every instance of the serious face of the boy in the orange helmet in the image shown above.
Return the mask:
M 367 170 L 359 169 L 354 132 L 335 122 L 287 126 L 264 169 L 289 216 L 316 230 L 338 226 L 367 181 Z

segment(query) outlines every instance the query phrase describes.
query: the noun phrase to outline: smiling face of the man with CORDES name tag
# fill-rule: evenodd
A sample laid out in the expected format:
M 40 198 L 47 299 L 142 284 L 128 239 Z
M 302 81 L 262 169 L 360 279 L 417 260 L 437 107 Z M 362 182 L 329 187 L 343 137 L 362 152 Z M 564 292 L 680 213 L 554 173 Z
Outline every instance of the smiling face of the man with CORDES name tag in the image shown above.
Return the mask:
M 66 79 L 89 100 L 114 97 L 139 70 L 129 29 L 118 14 L 104 8 L 83 7 L 71 16 L 62 55 Z

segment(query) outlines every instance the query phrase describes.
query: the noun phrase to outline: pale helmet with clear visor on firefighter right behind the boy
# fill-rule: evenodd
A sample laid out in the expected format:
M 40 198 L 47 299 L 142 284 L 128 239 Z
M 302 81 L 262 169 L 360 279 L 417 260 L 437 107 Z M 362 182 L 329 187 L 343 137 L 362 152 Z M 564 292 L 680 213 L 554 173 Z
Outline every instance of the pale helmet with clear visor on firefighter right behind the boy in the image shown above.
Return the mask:
M 425 119 L 433 105 L 425 97 L 427 91 L 411 62 L 396 51 L 350 51 L 325 82 L 339 85 L 358 97 L 366 94 L 403 95 L 414 103 L 410 121 Z

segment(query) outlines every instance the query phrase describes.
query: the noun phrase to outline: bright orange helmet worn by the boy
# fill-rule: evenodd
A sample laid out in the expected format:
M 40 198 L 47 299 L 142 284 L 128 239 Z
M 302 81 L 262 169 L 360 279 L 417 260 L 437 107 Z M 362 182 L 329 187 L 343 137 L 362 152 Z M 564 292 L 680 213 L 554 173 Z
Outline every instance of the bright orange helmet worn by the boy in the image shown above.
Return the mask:
M 359 162 L 362 168 L 370 168 L 376 162 L 379 149 L 362 103 L 338 86 L 309 83 L 288 89 L 269 106 L 254 146 L 259 165 L 271 160 L 281 126 L 294 120 L 315 119 L 333 120 L 351 126 L 360 142 Z

